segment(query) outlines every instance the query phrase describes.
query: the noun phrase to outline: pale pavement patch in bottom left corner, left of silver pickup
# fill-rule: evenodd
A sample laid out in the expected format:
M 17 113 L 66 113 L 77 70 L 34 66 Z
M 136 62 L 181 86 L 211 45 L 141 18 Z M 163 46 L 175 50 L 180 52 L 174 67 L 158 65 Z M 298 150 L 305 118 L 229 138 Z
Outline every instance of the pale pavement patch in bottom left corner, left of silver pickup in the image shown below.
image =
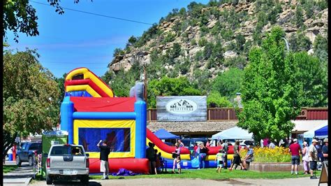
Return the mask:
M 15 165 L 15 162 L 6 161 L 6 165 Z M 33 167 L 29 166 L 29 163 L 27 162 L 22 162 L 22 166 L 17 168 L 15 171 L 10 171 L 9 173 L 3 174 L 3 185 L 28 185 L 32 176 L 34 176 Z

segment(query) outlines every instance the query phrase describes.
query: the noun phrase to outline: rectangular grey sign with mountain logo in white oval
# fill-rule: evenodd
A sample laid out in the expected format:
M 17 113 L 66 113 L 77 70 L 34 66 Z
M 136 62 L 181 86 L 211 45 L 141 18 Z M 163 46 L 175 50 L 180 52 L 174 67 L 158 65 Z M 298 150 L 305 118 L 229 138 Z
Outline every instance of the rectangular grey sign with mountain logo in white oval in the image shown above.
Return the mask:
M 158 121 L 206 121 L 207 96 L 157 96 Z

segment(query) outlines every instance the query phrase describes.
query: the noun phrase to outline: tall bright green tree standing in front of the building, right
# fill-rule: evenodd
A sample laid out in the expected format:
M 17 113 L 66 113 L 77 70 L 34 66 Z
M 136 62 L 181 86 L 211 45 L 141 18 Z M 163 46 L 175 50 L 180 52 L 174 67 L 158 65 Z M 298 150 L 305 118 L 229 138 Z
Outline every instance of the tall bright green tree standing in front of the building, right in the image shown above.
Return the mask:
M 299 115 L 303 86 L 297 79 L 298 62 L 293 53 L 286 55 L 280 27 L 272 28 L 262 48 L 249 52 L 249 64 L 242 81 L 243 110 L 237 115 L 238 127 L 248 129 L 253 138 L 281 139 L 290 134 L 290 120 Z

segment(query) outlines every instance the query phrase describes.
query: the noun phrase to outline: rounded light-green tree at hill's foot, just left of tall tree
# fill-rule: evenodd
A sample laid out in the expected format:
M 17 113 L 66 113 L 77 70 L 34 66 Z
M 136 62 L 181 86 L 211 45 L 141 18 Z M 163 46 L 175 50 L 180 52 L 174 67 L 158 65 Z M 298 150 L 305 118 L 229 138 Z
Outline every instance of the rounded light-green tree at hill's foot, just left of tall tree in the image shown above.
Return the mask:
M 244 71 L 232 68 L 219 74 L 212 82 L 212 90 L 219 92 L 221 96 L 226 96 L 228 99 L 233 98 L 235 93 L 240 92 L 242 76 Z

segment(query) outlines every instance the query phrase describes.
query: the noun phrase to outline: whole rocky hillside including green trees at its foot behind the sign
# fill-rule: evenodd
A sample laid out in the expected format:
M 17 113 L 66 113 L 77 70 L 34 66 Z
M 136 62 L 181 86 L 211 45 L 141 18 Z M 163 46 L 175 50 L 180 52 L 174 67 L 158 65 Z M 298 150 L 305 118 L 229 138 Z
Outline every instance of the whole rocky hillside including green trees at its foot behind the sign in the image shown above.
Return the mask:
M 233 106 L 249 51 L 260 47 L 275 26 L 285 31 L 290 52 L 308 52 L 318 60 L 323 73 L 306 85 L 314 100 L 305 106 L 326 106 L 326 0 L 192 2 L 187 8 L 173 9 L 142 36 L 128 38 L 126 48 L 114 51 L 103 80 L 117 96 L 128 96 L 130 87 L 142 79 L 145 65 L 149 108 L 156 107 L 158 95 L 207 95 L 208 104 Z M 313 73 L 309 65 L 302 66 L 302 77 L 312 78 Z

